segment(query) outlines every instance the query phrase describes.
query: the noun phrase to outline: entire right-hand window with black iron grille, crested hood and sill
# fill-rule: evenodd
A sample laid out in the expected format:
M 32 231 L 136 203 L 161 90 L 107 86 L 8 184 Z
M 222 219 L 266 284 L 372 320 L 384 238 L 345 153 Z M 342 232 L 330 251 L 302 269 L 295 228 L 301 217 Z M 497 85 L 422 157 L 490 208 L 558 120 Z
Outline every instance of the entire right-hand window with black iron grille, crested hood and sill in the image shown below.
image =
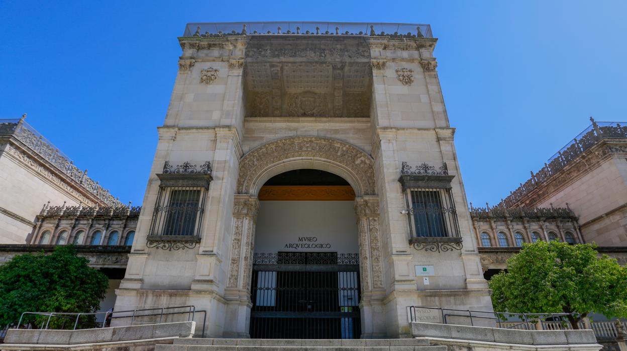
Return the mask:
M 410 244 L 418 250 L 450 251 L 461 249 L 460 226 L 451 180 L 443 163 L 439 168 L 422 163 L 401 165 L 399 182 L 403 187 L 408 215 Z

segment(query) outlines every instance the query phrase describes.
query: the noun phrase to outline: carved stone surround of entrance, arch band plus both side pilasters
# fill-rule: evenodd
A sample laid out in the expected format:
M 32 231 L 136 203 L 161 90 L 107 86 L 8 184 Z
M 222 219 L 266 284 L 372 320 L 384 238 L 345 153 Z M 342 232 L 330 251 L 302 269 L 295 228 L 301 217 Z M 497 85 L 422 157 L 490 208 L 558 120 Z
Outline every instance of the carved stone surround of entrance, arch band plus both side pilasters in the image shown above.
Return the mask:
M 251 150 L 240 159 L 236 194 L 233 198 L 233 234 L 228 279 L 224 289 L 224 297 L 228 301 L 226 313 L 229 316 L 225 320 L 224 335 L 251 336 L 253 252 L 263 253 L 255 248 L 261 187 L 273 176 L 304 169 L 323 170 L 337 175 L 347 181 L 354 192 L 351 195 L 351 198 L 354 196 L 354 202 L 346 202 L 354 205 L 357 221 L 361 337 L 384 337 L 386 325 L 381 315 L 384 313 L 386 289 L 374 159 L 356 146 L 343 141 L 308 136 L 271 141 Z M 324 219 L 319 221 L 324 222 Z M 346 222 L 354 223 L 355 220 Z M 304 259 L 322 259 L 320 257 L 321 254 L 317 253 Z M 338 259 L 339 257 L 338 255 Z M 258 281 L 259 278 L 256 279 Z

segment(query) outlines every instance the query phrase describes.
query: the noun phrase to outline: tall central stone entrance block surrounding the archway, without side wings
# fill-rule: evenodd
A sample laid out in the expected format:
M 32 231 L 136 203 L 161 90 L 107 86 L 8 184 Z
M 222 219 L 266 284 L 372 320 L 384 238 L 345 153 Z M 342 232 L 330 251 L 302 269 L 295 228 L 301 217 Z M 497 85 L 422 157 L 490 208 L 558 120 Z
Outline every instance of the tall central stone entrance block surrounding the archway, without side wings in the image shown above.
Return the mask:
M 409 335 L 410 305 L 490 310 L 429 26 L 294 27 L 189 24 L 179 38 L 116 309 L 195 305 L 208 311 L 206 335 L 251 335 L 260 188 L 313 169 L 355 193 L 345 220 L 357 221 L 359 336 Z M 446 200 L 454 216 L 440 232 L 416 227 L 430 206 L 416 194 Z M 164 235 L 172 202 L 196 208 L 193 228 L 179 229 L 186 235 Z M 423 279 L 416 266 L 434 273 Z

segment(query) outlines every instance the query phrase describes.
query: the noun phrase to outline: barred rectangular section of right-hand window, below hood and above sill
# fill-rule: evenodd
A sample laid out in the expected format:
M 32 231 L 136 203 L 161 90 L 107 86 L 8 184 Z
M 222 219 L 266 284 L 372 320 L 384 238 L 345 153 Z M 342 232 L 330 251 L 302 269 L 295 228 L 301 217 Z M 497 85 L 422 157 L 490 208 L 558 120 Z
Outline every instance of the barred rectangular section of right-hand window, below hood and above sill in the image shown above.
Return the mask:
M 459 235 L 457 212 L 450 189 L 411 188 L 407 190 L 407 195 L 413 236 Z

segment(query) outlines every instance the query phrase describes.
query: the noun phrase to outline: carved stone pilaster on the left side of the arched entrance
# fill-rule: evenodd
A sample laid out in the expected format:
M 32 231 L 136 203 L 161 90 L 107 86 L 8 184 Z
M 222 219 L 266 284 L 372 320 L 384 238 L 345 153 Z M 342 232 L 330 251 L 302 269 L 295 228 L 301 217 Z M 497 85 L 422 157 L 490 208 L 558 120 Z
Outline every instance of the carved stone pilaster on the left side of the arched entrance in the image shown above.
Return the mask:
M 233 200 L 233 238 L 228 279 L 224 289 L 226 318 L 224 337 L 250 337 L 250 279 L 253 269 L 255 224 L 259 200 L 250 195 L 235 195 Z

